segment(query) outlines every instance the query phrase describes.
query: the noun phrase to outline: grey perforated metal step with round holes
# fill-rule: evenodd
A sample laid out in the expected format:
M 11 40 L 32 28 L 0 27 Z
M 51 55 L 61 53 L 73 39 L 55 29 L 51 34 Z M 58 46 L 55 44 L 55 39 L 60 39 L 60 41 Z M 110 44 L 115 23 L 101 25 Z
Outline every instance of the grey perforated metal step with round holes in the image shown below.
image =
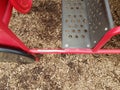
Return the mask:
M 62 0 L 62 47 L 93 48 L 113 27 L 108 0 Z

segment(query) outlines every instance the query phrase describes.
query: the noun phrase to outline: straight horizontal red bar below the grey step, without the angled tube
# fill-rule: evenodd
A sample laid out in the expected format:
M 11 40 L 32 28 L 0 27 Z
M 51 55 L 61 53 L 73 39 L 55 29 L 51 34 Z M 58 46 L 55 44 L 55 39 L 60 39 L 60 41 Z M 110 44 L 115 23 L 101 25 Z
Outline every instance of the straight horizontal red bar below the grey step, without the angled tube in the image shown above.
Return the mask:
M 120 54 L 120 49 L 101 49 L 93 52 L 92 49 L 30 49 L 34 54 Z

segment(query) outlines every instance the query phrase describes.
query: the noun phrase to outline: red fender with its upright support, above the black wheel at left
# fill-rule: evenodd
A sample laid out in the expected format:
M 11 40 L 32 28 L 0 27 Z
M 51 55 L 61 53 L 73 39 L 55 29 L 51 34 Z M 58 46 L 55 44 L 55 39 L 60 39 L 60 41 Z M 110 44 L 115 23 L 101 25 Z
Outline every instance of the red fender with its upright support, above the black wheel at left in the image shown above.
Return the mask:
M 8 28 L 13 6 L 9 0 L 1 0 L 0 2 L 0 48 L 8 48 L 13 50 L 21 50 L 29 53 L 29 49 L 16 37 L 16 35 Z

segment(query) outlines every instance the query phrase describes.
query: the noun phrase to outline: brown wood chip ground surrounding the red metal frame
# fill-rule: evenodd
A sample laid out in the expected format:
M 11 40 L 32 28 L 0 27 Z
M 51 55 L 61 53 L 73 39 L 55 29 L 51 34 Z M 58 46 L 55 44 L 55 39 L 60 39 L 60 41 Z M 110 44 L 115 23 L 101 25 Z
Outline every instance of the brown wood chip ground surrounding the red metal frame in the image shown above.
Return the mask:
M 120 25 L 120 2 L 109 1 L 115 25 Z M 14 10 L 10 28 L 30 48 L 60 47 L 61 2 L 34 0 L 27 15 Z M 116 36 L 105 47 L 118 48 L 119 41 Z M 1 62 L 0 90 L 14 89 L 120 90 L 120 55 L 41 55 L 32 64 Z

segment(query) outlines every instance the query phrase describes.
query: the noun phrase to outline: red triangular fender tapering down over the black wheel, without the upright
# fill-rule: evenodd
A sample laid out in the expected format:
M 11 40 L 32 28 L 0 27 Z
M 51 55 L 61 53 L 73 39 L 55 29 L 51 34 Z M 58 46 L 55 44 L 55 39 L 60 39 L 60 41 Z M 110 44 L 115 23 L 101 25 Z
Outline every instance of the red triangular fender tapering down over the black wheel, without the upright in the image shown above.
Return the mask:
M 29 49 L 3 23 L 0 23 L 0 46 L 20 49 L 28 52 Z

